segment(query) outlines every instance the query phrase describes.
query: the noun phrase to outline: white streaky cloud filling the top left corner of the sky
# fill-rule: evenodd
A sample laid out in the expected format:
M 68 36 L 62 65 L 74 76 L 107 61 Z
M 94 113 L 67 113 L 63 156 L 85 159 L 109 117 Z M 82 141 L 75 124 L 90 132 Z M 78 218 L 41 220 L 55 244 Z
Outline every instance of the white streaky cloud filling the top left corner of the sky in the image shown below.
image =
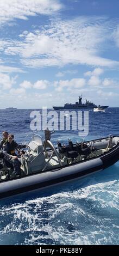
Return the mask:
M 15 19 L 28 20 L 28 16 L 37 14 L 51 15 L 62 5 L 57 0 L 4 0 L 0 1 L 0 23 Z

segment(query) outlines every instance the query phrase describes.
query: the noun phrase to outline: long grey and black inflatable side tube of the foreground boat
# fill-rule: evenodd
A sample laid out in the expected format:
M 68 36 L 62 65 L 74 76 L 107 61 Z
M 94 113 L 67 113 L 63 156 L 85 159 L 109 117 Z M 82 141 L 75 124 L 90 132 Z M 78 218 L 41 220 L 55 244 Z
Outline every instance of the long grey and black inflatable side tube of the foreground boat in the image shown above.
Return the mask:
M 60 167 L 39 174 L 24 176 L 21 179 L 3 181 L 0 184 L 0 198 L 14 196 L 28 191 L 37 190 L 68 180 L 83 178 L 85 175 L 103 170 L 119 160 L 119 144 L 100 157 L 93 157 L 80 163 Z

